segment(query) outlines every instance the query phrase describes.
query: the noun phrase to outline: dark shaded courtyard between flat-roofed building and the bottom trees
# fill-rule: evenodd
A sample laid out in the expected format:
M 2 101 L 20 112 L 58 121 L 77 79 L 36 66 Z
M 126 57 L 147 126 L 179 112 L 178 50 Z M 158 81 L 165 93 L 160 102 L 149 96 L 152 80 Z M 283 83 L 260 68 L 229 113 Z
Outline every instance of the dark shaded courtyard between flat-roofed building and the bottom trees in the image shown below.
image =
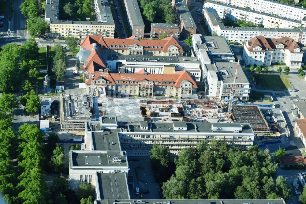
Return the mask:
M 153 171 L 151 169 L 150 157 L 128 157 L 129 159 L 129 175 L 134 178 L 135 186 L 129 186 L 131 199 L 139 199 L 136 195 L 136 187 L 139 187 L 143 199 L 159 199 L 159 185 L 155 182 Z

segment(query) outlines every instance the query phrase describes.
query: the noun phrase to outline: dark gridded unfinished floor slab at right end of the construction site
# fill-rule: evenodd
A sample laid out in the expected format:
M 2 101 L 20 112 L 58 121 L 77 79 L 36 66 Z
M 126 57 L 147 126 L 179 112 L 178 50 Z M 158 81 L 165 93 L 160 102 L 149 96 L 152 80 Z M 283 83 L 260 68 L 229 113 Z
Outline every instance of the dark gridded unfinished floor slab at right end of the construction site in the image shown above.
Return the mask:
M 270 132 L 258 106 L 233 105 L 231 118 L 234 123 L 250 123 L 257 135 L 268 135 Z

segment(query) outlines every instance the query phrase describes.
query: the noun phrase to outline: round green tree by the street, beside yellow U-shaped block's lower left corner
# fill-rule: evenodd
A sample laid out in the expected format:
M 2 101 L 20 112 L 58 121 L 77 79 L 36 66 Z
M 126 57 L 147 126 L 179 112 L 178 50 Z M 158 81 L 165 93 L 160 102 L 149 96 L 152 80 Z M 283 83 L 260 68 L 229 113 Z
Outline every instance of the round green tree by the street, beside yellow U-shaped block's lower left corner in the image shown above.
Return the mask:
M 47 28 L 48 24 L 43 18 L 33 16 L 28 19 L 28 31 L 31 37 L 40 36 Z

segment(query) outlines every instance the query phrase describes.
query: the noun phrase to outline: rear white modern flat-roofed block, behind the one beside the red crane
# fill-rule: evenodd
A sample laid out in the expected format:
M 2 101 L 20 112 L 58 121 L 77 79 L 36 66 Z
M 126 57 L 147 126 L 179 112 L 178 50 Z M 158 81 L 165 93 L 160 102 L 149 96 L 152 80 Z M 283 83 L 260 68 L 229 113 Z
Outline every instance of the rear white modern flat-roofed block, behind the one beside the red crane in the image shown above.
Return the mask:
M 215 62 L 235 61 L 234 53 L 229 43 L 221 36 L 202 36 L 200 34 L 195 34 L 192 36 L 192 47 L 197 56 L 200 49 L 206 50 L 207 54 L 211 56 L 211 59 Z

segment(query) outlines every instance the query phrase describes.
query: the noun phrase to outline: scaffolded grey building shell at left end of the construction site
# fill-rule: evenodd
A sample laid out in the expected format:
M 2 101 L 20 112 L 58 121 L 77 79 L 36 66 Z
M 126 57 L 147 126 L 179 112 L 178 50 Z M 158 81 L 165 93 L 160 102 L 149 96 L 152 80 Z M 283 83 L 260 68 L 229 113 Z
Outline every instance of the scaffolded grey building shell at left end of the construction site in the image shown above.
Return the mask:
M 61 130 L 84 131 L 85 122 L 93 121 L 87 95 L 60 94 Z

